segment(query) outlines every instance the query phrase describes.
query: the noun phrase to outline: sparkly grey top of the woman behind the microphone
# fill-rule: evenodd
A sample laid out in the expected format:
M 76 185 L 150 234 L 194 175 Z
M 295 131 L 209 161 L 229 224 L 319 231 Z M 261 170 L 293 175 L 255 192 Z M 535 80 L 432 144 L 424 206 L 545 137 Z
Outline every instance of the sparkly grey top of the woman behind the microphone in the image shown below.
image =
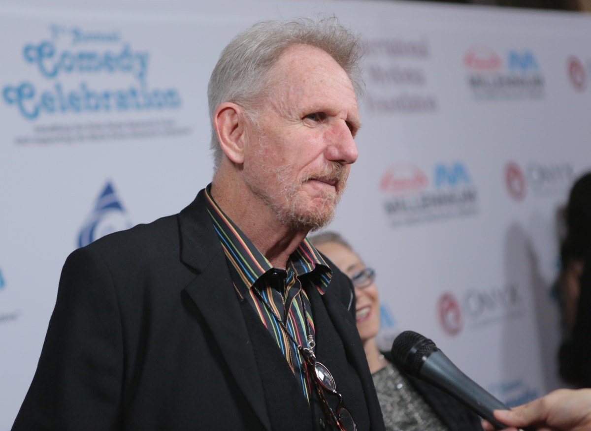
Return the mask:
M 372 378 L 387 431 L 449 431 L 392 364 L 376 371 Z

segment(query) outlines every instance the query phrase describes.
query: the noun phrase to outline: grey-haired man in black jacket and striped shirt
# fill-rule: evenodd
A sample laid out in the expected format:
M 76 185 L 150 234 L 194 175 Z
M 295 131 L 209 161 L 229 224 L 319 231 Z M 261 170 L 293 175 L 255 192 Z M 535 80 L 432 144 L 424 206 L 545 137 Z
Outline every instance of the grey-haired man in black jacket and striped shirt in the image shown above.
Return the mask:
M 305 239 L 357 158 L 358 60 L 336 19 L 230 42 L 212 184 L 69 256 L 15 430 L 383 429 L 351 283 Z

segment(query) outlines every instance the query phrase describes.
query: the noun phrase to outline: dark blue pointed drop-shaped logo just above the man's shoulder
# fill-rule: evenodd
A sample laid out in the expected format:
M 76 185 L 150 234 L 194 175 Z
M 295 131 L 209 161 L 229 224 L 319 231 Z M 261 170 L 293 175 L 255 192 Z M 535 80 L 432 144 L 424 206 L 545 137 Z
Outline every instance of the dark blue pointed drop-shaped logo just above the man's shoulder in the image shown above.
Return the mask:
M 78 236 L 78 247 L 84 247 L 109 233 L 132 226 L 121 201 L 108 182 L 96 200 L 95 208 L 86 218 Z

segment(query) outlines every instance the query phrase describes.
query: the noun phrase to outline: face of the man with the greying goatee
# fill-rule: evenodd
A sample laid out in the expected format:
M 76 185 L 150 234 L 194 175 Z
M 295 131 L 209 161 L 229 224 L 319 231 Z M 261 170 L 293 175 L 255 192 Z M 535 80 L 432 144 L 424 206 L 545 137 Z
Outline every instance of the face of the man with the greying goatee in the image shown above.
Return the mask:
M 271 70 L 248 129 L 245 183 L 285 226 L 327 224 L 357 159 L 361 126 L 345 71 L 319 48 L 294 45 Z

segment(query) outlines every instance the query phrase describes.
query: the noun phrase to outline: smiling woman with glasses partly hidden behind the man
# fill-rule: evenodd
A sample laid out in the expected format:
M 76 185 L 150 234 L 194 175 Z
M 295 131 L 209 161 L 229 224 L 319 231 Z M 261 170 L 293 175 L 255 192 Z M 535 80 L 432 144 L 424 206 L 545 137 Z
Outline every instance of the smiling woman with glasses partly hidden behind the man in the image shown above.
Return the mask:
M 310 238 L 355 286 L 357 329 L 372 373 L 384 423 L 389 431 L 482 430 L 480 419 L 452 397 L 407 376 L 379 352 L 378 289 L 374 269 L 365 266 L 339 234 L 326 232 Z

